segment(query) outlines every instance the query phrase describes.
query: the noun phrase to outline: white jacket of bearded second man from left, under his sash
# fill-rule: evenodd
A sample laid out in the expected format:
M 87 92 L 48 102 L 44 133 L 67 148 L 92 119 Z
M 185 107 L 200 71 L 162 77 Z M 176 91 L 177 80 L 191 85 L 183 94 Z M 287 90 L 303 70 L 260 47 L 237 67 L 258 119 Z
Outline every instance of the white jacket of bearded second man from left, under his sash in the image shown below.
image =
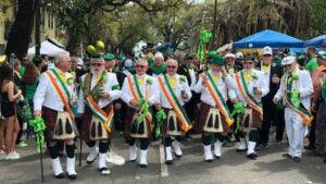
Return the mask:
M 80 90 L 79 90 L 79 98 L 78 98 L 78 109 L 77 112 L 78 113 L 84 113 L 85 112 L 85 97 L 84 97 L 84 91 L 83 91 L 83 87 L 84 87 L 84 81 L 87 74 L 83 75 L 80 77 Z M 108 82 L 104 85 L 104 91 L 109 94 L 109 98 L 99 98 L 98 100 L 98 106 L 100 108 L 104 108 L 108 105 L 110 105 L 111 102 L 113 102 L 114 100 L 118 99 L 121 97 L 121 89 L 113 89 L 113 87 L 118 86 L 117 79 L 116 79 L 116 75 L 115 73 L 109 73 L 106 72 L 106 76 L 108 76 Z M 92 89 L 96 86 L 96 77 L 91 78 L 91 83 L 90 83 L 90 89 Z

